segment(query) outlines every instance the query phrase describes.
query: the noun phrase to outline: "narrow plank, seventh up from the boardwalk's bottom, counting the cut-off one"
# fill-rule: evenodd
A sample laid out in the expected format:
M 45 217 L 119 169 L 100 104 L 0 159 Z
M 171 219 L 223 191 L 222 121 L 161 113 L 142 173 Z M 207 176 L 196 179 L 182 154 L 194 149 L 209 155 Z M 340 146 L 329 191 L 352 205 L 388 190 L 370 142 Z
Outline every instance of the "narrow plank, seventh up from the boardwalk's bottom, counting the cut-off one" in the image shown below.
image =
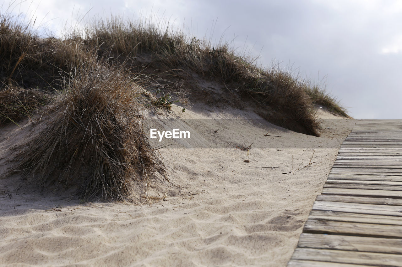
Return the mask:
M 316 197 L 316 200 L 402 206 L 402 199 L 396 199 L 396 198 L 373 198 L 364 196 L 341 196 L 341 195 L 326 194 L 326 195 L 318 195 Z

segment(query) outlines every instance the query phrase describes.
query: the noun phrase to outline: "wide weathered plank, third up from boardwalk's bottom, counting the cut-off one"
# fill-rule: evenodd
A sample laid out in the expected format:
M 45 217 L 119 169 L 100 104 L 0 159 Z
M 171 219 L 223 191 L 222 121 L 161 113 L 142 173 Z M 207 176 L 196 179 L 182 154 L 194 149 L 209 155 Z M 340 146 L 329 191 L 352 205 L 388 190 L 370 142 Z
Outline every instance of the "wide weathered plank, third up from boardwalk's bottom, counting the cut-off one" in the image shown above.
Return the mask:
M 302 233 L 297 247 L 402 254 L 402 239 Z

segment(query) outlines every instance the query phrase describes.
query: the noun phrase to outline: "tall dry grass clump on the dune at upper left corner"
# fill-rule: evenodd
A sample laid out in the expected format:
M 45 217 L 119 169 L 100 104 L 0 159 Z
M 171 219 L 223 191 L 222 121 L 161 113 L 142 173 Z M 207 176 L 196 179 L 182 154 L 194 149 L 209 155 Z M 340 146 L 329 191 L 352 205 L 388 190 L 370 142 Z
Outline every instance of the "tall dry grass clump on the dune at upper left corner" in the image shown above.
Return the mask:
M 40 38 L 18 16 L 0 14 L 0 89 L 16 85 L 25 89 L 62 90 L 61 81 L 71 69 L 93 63 L 93 51 L 82 38 Z

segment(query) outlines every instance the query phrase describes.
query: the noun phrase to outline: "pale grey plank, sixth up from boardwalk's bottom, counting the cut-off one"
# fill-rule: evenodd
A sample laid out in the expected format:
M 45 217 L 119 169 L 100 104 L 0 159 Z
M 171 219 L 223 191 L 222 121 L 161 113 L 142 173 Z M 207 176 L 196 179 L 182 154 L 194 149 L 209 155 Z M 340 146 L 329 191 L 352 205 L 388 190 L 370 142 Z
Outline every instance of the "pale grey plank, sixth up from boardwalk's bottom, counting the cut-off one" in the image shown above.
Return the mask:
M 336 201 L 314 201 L 312 210 L 375 214 L 402 217 L 402 206 L 361 204 Z M 400 218 L 402 220 L 402 218 Z

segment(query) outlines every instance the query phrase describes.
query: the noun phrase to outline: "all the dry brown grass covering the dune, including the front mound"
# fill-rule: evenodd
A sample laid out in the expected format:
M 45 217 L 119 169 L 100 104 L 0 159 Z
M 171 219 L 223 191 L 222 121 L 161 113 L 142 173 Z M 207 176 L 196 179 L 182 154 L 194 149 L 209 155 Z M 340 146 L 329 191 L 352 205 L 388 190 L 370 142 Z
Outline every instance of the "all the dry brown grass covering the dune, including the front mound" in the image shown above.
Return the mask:
M 347 116 L 335 99 L 290 73 L 257 67 L 227 44 L 211 47 L 161 24 L 100 20 L 84 35 L 72 30 L 62 39 L 40 38 L 31 28 L 0 14 L 0 123 L 16 123 L 38 110 L 48 114 L 30 145 L 21 145 L 13 170 L 42 185 L 76 186 L 85 198 L 122 199 L 133 179 L 148 181 L 155 173 L 166 178 L 144 135 L 140 110 L 154 101 L 146 104 L 144 92 L 169 91 L 178 78 L 215 79 L 270 110 L 269 121 L 310 135 L 318 136 L 320 128 L 314 104 Z M 139 59 L 182 74 L 169 74 L 167 81 L 152 69 L 137 73 L 147 67 Z M 170 107 L 170 100 L 162 100 Z

